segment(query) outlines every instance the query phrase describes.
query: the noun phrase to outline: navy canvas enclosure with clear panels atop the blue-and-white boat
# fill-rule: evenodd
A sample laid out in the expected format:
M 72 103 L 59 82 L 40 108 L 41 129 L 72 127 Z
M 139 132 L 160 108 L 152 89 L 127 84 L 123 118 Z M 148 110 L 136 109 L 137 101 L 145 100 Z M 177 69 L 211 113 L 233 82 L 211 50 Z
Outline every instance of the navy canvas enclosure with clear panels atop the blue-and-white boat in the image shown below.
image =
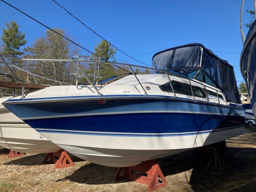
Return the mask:
M 220 88 L 227 101 L 241 103 L 233 66 L 202 44 L 186 44 L 157 52 L 152 68 L 158 70 L 203 70 Z

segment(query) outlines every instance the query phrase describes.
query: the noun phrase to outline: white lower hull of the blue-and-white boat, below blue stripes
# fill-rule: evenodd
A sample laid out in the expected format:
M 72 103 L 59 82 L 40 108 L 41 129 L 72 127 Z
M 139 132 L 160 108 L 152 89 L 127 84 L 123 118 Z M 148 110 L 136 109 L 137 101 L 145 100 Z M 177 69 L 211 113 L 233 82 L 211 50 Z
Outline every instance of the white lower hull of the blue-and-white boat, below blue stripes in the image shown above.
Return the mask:
M 243 134 L 244 127 L 206 134 L 173 137 L 119 137 L 46 133 L 71 154 L 104 166 L 126 167 L 227 140 Z

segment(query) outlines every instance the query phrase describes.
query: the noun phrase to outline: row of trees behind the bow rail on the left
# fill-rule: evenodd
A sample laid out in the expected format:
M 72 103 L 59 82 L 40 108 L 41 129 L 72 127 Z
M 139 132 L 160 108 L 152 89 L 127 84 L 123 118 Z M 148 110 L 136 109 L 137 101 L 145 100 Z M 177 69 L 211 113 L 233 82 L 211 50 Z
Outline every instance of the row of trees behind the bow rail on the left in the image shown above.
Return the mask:
M 68 37 L 69 35 L 62 29 L 55 28 L 54 31 L 61 35 Z M 69 82 L 75 84 L 76 66 L 72 62 L 57 62 L 57 61 L 21 61 L 15 58 L 43 58 L 43 59 L 72 59 L 74 55 L 79 55 L 80 49 L 77 48 L 67 39 L 60 35 L 47 30 L 44 35 L 37 38 L 31 47 L 27 46 L 20 50 L 20 47 L 26 46 L 26 35 L 19 31 L 19 25 L 15 21 L 6 23 L 6 28 L 3 28 L 3 35 L 1 36 L 3 41 L 3 47 L 1 53 L 4 55 L 10 55 L 14 58 L 9 59 L 9 63 L 28 70 L 39 76 L 43 76 L 49 79 L 55 79 L 57 81 Z M 95 55 L 100 57 L 101 61 L 115 62 L 116 49 L 114 49 L 108 42 L 102 40 L 95 46 Z M 95 56 L 94 54 L 90 56 Z M 77 58 L 76 58 L 77 59 Z M 98 61 L 98 58 L 94 58 Z M 90 62 L 80 62 L 80 68 L 85 74 L 94 74 L 95 65 Z M 97 67 L 96 67 L 97 69 Z M 25 72 L 15 69 L 12 70 L 19 81 L 34 82 L 35 77 L 27 75 Z M 140 70 L 139 68 L 133 69 L 137 74 L 150 73 L 149 70 Z M 114 66 L 112 64 L 100 64 L 99 75 L 101 79 L 106 79 L 112 76 L 124 74 L 130 72 L 128 67 Z M 5 64 L 1 64 L 0 73 L 8 74 L 11 78 L 11 74 Z M 97 73 L 97 72 L 96 72 Z M 3 78 L 2 78 L 3 79 Z M 94 78 L 90 77 L 91 80 Z M 12 79 L 13 81 L 15 79 Z M 0 80 L 3 81 L 3 80 Z M 84 78 L 80 78 L 79 82 L 85 81 Z M 36 78 L 38 84 L 58 84 L 57 82 L 47 81 L 45 79 Z

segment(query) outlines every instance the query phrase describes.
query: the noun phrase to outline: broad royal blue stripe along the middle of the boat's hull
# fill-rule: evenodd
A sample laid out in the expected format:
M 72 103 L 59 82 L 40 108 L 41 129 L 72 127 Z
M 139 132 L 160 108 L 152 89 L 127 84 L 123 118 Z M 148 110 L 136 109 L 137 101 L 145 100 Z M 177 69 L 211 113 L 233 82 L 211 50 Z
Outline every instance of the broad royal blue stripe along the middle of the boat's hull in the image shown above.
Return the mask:
M 120 114 L 24 120 L 33 128 L 118 132 L 118 133 L 184 133 L 210 131 L 244 125 L 244 116 L 221 116 L 181 113 Z

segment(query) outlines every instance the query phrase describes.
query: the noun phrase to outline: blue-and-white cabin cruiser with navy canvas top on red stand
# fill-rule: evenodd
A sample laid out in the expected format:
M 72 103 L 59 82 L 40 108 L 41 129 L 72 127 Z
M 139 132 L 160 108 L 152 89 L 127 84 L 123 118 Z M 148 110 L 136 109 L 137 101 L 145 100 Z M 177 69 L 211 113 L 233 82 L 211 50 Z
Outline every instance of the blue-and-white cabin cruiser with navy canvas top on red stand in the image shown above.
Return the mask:
M 113 167 L 243 134 L 233 67 L 203 45 L 158 52 L 152 68 L 115 65 L 131 73 L 98 84 L 87 78 L 90 84 L 31 89 L 3 105 L 71 154 Z M 135 67 L 152 73 L 136 74 Z

